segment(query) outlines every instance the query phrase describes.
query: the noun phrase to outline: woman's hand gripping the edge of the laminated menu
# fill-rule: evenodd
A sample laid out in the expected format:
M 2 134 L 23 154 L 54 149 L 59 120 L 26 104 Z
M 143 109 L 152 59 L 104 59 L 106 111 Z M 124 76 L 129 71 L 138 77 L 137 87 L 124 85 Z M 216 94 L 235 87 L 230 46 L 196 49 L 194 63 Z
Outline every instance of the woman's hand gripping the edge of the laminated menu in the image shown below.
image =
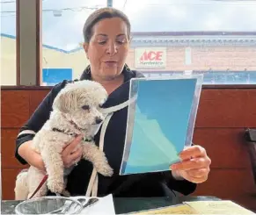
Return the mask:
M 179 157 L 181 161 L 170 167 L 173 176 L 181 176 L 192 183 L 203 183 L 208 179 L 211 161 L 203 147 L 187 147 Z

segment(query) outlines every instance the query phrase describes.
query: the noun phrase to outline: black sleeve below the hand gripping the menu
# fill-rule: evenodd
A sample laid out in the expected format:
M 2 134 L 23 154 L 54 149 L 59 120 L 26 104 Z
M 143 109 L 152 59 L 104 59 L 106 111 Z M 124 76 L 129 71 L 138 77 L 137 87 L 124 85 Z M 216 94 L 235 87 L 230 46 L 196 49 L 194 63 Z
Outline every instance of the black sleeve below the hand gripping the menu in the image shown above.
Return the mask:
M 172 171 L 163 172 L 166 185 L 169 189 L 178 191 L 183 195 L 189 195 L 196 189 L 196 183 L 188 182 L 187 180 L 176 180 L 172 176 Z

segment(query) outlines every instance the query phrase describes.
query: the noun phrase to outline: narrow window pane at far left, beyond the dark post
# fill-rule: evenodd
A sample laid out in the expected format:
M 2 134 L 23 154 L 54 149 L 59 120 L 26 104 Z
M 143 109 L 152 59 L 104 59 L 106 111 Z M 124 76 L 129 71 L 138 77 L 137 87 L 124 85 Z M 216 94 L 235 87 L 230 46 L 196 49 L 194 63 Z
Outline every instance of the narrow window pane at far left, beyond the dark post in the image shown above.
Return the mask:
M 16 85 L 16 1 L 1 0 L 1 85 Z

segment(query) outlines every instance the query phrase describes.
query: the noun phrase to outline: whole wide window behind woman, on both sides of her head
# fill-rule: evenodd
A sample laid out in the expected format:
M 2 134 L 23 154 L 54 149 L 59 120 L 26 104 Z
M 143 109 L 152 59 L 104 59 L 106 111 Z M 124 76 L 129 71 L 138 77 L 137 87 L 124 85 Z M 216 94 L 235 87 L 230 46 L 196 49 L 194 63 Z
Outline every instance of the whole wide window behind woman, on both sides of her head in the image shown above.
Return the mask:
M 89 64 L 84 21 L 106 4 L 42 2 L 42 85 L 79 78 Z M 147 76 L 200 73 L 205 84 L 256 83 L 255 1 L 113 0 L 113 7 L 131 21 L 131 69 Z

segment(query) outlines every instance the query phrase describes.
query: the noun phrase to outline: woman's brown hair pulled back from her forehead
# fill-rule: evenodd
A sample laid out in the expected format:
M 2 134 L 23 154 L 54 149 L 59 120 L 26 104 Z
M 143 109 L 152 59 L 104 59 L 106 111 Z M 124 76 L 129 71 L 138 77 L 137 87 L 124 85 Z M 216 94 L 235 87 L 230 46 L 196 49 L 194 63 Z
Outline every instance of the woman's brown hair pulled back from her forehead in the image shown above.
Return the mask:
M 86 19 L 86 22 L 84 24 L 84 42 L 89 43 L 91 36 L 93 34 L 92 28 L 94 25 L 96 25 L 100 20 L 106 19 L 106 18 L 121 18 L 128 27 L 128 39 L 130 39 L 130 32 L 131 32 L 131 25 L 128 20 L 128 17 L 122 12 L 117 9 L 107 7 L 107 8 L 100 8 L 97 11 L 94 11 L 91 13 L 89 18 Z

